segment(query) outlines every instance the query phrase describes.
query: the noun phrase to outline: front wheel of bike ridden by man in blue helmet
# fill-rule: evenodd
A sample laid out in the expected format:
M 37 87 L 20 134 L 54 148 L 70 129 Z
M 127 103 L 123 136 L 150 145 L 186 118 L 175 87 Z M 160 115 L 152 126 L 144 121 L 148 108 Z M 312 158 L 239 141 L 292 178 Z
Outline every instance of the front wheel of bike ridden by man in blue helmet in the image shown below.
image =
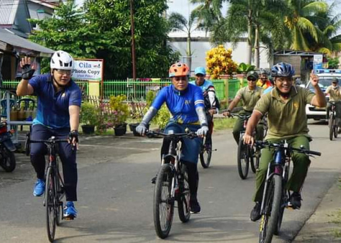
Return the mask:
M 277 231 L 278 216 L 282 202 L 282 177 L 274 174 L 268 181 L 259 233 L 260 243 L 270 243 Z

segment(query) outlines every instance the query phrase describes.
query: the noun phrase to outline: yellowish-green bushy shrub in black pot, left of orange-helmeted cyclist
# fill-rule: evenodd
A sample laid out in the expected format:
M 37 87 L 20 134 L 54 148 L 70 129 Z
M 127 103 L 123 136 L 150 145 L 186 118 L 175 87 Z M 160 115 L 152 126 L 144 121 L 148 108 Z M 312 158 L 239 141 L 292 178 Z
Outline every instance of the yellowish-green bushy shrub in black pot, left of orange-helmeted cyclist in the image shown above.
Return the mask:
M 127 132 L 127 123 L 125 122 L 129 115 L 128 104 L 125 103 L 125 95 L 110 96 L 109 105 L 112 110 L 112 121 L 116 136 L 122 136 Z

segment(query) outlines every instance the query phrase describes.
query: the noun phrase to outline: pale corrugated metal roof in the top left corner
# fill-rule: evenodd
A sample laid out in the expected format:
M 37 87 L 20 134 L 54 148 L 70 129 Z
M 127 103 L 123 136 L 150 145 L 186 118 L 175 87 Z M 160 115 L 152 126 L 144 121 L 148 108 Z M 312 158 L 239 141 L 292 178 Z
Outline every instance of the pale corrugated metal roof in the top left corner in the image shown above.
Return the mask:
M 0 24 L 14 24 L 20 0 L 0 0 Z

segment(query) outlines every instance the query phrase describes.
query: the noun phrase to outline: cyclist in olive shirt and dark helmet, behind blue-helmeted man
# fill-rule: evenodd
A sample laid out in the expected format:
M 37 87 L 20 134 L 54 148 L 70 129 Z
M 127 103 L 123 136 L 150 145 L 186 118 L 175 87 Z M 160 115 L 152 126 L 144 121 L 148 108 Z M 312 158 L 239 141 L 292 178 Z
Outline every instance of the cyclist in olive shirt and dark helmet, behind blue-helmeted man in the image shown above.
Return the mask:
M 240 100 L 243 102 L 243 110 L 239 112 L 239 115 L 251 115 L 253 107 L 257 101 L 261 98 L 263 88 L 256 86 L 258 80 L 258 73 L 255 71 L 249 71 L 246 74 L 247 86 L 238 90 L 233 101 L 227 108 L 227 112 L 224 112 L 224 116 L 231 116 L 231 110 L 238 104 Z M 239 134 L 243 130 L 244 120 L 238 118 L 233 126 L 232 134 L 233 138 L 239 143 Z M 264 126 L 262 123 L 257 125 L 257 140 L 263 140 Z

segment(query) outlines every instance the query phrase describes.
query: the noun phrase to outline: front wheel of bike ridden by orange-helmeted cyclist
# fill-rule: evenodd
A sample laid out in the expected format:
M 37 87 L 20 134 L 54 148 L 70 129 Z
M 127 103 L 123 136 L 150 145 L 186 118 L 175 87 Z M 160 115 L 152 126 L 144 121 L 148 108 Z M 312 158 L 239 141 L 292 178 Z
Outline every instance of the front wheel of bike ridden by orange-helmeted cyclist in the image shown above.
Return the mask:
M 154 190 L 154 227 L 158 237 L 165 239 L 171 228 L 174 214 L 174 198 L 172 198 L 172 180 L 174 174 L 169 165 L 161 166 L 157 175 Z

